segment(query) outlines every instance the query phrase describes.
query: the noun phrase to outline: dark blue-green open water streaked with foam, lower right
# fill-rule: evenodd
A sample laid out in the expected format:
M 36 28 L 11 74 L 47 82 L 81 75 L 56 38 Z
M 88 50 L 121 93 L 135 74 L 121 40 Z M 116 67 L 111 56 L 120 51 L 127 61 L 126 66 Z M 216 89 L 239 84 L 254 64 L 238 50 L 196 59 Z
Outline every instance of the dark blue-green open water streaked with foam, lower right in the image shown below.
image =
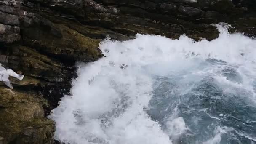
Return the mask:
M 235 73 L 235 70 L 224 69 L 224 72 Z M 236 77 L 237 74 L 229 76 Z M 170 117 L 175 115 L 184 119 L 189 130 L 173 143 L 202 144 L 213 139 L 218 128 L 225 130 L 220 133 L 220 144 L 256 143 L 253 140 L 256 138 L 256 107 L 250 101 L 251 92 L 242 88 L 224 91 L 213 77 L 205 76 L 184 93 L 180 91 L 184 88 L 179 81 L 172 80 L 156 79 L 147 113 L 162 125 L 163 131 L 167 129 L 166 122 Z

